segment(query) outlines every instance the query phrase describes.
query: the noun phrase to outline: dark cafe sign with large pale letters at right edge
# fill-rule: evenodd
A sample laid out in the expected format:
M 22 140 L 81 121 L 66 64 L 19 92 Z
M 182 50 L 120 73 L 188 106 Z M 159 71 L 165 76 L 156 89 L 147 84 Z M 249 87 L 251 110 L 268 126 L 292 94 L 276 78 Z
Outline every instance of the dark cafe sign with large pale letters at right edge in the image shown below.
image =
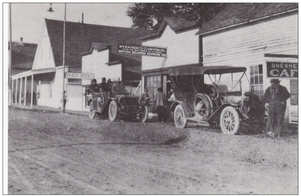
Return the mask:
M 268 77 L 298 78 L 298 63 L 266 62 Z

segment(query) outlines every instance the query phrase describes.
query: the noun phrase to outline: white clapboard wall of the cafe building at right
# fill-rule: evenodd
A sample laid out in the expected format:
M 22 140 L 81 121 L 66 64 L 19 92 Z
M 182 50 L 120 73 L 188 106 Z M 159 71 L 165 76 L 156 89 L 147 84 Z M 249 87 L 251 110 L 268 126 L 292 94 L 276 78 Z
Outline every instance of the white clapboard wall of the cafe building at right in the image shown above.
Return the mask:
M 203 36 L 203 64 L 204 66 L 236 66 L 246 67 L 247 77 L 242 79 L 242 91 L 250 91 L 250 66 L 263 67 L 263 90 L 270 86 L 267 77 L 266 61 L 295 62 L 296 58 L 271 58 L 264 54 L 293 54 L 298 55 L 298 14 L 264 21 L 254 25 L 223 31 L 221 33 Z M 231 77 L 231 76 L 230 76 Z M 238 76 L 234 77 L 238 80 Z M 281 78 L 281 85 L 290 92 L 290 78 Z M 208 77 L 205 82 L 210 83 Z M 286 116 L 291 118 L 297 107 L 290 106 L 287 101 Z

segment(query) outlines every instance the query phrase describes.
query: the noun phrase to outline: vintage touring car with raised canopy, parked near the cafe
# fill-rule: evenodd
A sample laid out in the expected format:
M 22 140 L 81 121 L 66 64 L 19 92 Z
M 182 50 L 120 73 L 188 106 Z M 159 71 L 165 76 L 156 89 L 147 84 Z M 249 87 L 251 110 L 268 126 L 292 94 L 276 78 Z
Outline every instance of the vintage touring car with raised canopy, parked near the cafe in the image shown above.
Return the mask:
M 246 75 L 245 71 L 245 67 L 231 66 L 170 69 L 176 98 L 170 110 L 175 126 L 185 128 L 191 120 L 213 127 L 220 125 L 223 133 L 234 135 L 242 123 L 250 125 L 258 121 L 264 111 L 250 111 L 250 97 L 242 95 L 241 78 Z M 240 79 L 233 81 L 233 74 Z M 205 84 L 204 78 L 210 79 L 211 84 Z M 254 105 L 251 108 L 254 109 Z

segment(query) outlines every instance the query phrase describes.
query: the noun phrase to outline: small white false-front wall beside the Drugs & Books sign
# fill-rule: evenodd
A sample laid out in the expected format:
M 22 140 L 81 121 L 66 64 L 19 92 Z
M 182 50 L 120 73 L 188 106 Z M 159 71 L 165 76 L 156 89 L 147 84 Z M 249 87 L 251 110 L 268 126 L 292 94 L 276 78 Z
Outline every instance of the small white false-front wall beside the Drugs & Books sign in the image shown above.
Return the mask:
M 94 78 L 98 83 L 103 77 L 110 78 L 112 81 L 122 80 L 121 78 L 121 64 L 107 65 L 109 62 L 109 50 L 98 52 L 93 50 L 92 54 L 82 57 L 82 73 L 94 73 Z M 91 84 L 91 80 L 83 79 L 82 85 Z

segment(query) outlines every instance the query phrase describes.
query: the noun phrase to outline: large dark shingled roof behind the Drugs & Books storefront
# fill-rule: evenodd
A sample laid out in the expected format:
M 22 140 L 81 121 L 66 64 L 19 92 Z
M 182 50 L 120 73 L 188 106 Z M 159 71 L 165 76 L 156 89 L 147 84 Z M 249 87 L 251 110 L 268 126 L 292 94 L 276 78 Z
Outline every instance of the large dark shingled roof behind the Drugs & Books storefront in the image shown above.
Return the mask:
M 63 32 L 64 21 L 45 19 L 46 27 L 54 54 L 56 66 L 63 64 Z M 91 43 L 117 45 L 125 39 L 139 37 L 151 30 L 133 29 L 115 26 L 94 25 L 66 22 L 65 65 L 81 68 L 83 53 L 87 53 Z M 141 44 L 138 39 L 132 39 L 134 44 Z

